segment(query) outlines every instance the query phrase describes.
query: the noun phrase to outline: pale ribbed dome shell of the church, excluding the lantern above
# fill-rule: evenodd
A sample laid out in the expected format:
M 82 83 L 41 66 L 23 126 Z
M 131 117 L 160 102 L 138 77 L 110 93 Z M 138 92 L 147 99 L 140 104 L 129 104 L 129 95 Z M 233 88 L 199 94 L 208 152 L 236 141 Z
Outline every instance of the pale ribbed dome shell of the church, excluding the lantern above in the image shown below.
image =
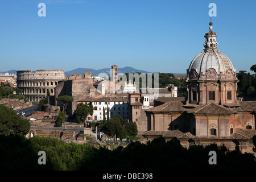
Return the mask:
M 218 49 L 214 51 L 213 49 L 208 49 L 199 53 L 189 65 L 188 72 L 191 69 L 196 69 L 198 74 L 201 72 L 205 74 L 209 68 L 214 68 L 218 74 L 220 72 L 225 73 L 226 69 L 232 69 L 233 72 L 236 72 L 229 58 L 224 53 L 218 51 Z

